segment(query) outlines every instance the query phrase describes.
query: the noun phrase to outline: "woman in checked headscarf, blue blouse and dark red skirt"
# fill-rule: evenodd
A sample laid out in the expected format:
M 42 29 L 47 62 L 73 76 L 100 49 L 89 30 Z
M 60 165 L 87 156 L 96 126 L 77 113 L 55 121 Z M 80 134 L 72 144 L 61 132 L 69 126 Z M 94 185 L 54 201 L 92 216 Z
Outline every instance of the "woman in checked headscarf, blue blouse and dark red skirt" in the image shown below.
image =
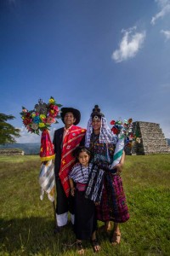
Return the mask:
M 109 229 L 110 221 L 114 222 L 113 235 L 111 243 L 119 244 L 121 241 L 121 231 L 119 223 L 126 222 L 129 218 L 126 198 L 122 188 L 122 166 L 124 164 L 125 154 L 114 169 L 109 166 L 113 161 L 116 136 L 107 125 L 105 116 L 100 112 L 99 107 L 94 106 L 93 113 L 88 120 L 88 128 L 85 137 L 85 146 L 92 152 L 93 163 L 99 170 L 104 171 L 102 198 L 97 206 L 97 218 L 105 222 L 105 229 Z

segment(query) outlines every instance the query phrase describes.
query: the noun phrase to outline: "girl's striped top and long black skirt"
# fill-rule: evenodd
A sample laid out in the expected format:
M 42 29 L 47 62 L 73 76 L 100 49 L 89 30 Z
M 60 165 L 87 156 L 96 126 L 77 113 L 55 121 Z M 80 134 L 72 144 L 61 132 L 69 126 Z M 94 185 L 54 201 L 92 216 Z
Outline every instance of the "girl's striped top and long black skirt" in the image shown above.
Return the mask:
M 79 240 L 91 239 L 94 231 L 97 229 L 94 201 L 85 198 L 88 175 L 91 169 L 92 164 L 84 167 L 77 163 L 69 173 L 69 177 L 76 183 L 74 231 Z

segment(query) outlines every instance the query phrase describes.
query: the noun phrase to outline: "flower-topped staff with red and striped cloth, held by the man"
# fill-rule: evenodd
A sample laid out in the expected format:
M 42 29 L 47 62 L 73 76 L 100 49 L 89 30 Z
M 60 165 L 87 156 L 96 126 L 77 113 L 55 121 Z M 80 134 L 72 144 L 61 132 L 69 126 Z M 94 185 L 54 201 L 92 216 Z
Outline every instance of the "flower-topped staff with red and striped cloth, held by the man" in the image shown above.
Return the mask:
M 54 204 L 54 145 L 51 143 L 49 136 L 49 128 L 52 124 L 58 123 L 56 119 L 59 119 L 59 108 L 62 105 L 57 104 L 54 97 L 50 97 L 48 104 L 42 102 L 40 99 L 38 104 L 35 105 L 34 109 L 28 111 L 25 107 L 22 107 L 20 113 L 23 120 L 23 124 L 26 126 L 28 132 L 35 133 L 37 135 L 42 132 L 41 137 L 41 148 L 40 158 L 42 161 L 40 173 L 39 173 L 39 184 L 41 186 L 40 199 L 43 199 L 44 193 L 47 193 L 48 200 Z M 54 212 L 55 218 L 55 212 Z M 57 222 L 55 218 L 55 224 Z

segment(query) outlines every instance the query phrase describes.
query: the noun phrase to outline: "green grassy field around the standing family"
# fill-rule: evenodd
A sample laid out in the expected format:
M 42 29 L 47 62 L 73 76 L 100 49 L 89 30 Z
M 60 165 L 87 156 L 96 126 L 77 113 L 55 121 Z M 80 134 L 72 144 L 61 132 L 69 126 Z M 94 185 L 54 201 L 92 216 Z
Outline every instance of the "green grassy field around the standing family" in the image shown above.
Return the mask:
M 39 199 L 40 164 L 38 156 L 0 156 L 2 256 L 77 255 L 71 224 L 54 235 L 52 203 Z M 98 255 L 170 255 L 170 154 L 127 156 L 122 181 L 130 219 L 116 247 L 99 231 Z M 85 246 L 93 255 L 89 241 Z

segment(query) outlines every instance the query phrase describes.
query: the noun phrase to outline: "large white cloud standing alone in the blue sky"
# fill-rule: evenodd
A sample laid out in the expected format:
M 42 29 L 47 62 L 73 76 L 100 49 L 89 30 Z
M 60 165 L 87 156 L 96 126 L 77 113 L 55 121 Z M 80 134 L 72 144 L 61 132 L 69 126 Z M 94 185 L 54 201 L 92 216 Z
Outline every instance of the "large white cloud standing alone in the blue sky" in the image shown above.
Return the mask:
M 145 38 L 145 32 L 135 32 L 136 27 L 131 27 L 128 30 L 122 30 L 124 33 L 119 49 L 116 49 L 111 58 L 116 62 L 126 61 L 133 58 L 142 47 Z

